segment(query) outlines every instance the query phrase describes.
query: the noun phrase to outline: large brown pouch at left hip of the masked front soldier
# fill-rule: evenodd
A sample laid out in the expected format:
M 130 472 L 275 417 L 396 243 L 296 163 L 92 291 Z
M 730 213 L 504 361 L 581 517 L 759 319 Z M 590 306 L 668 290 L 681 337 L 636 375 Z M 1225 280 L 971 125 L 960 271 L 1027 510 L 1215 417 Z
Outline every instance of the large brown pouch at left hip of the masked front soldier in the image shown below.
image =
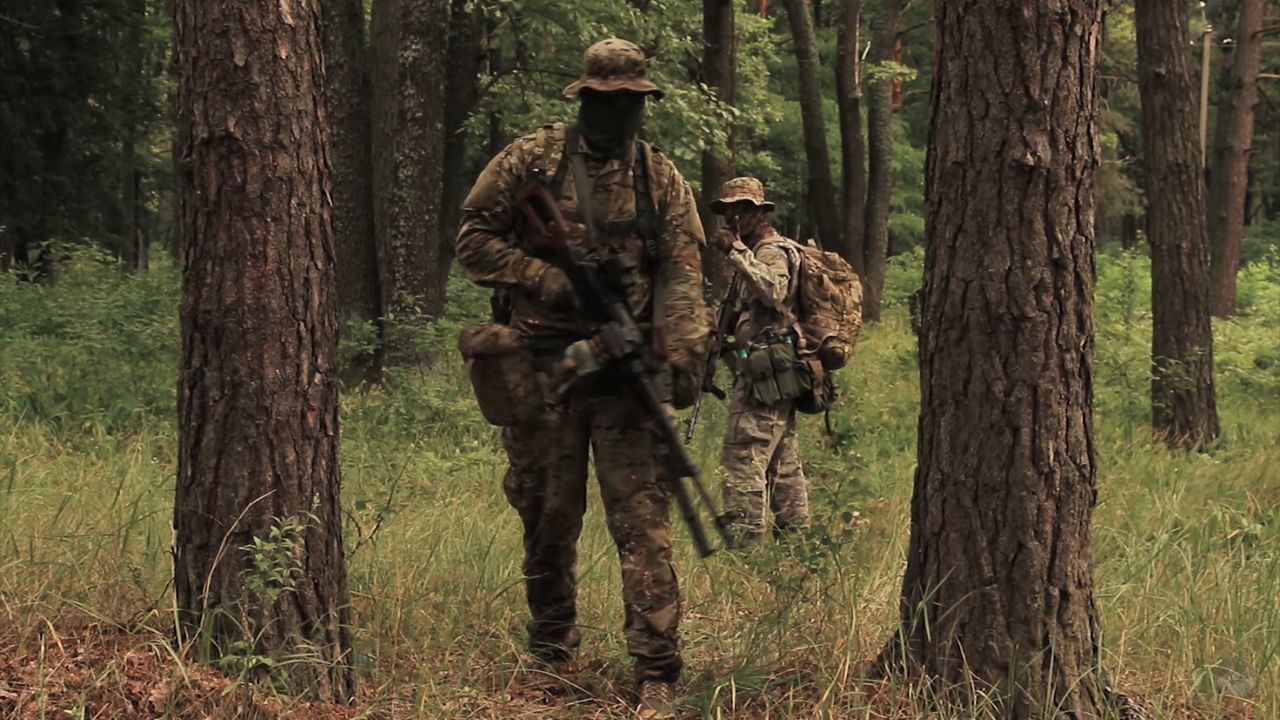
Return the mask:
M 458 351 L 480 413 L 490 424 L 527 425 L 543 414 L 547 402 L 534 355 L 515 328 L 498 323 L 463 328 Z

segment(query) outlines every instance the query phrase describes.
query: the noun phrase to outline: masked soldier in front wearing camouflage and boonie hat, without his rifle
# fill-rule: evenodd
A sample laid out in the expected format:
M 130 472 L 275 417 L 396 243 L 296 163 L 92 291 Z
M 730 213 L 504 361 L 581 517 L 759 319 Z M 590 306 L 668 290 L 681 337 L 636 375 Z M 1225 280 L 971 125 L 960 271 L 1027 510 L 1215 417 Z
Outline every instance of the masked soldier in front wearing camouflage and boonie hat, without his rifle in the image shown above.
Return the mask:
M 635 269 L 626 283 L 646 342 L 666 357 L 677 404 L 698 387 L 709 333 L 701 295 L 701 224 L 675 165 L 636 138 L 649 96 L 644 53 L 611 38 L 586 51 L 586 70 L 564 90 L 579 100 L 577 122 L 549 124 L 499 152 L 476 179 L 463 208 L 457 259 L 467 275 L 509 292 L 508 324 L 534 351 L 539 378 L 557 382 L 566 352 L 599 328 L 586 327 L 566 273 L 520 238 L 516 190 L 527 178 L 549 184 L 570 223 L 570 243 Z M 585 160 L 575 178 L 572 155 Z M 580 210 L 590 192 L 594 242 Z M 654 341 L 662 338 L 662 341 Z M 534 423 L 503 429 L 509 468 L 503 489 L 524 521 L 530 650 L 541 660 L 572 659 L 579 646 L 573 562 L 586 509 L 588 455 L 622 565 L 625 634 L 640 685 L 641 717 L 671 716 L 681 670 L 680 589 L 672 566 L 669 491 L 658 469 L 658 442 L 640 405 L 608 368 L 579 378 Z

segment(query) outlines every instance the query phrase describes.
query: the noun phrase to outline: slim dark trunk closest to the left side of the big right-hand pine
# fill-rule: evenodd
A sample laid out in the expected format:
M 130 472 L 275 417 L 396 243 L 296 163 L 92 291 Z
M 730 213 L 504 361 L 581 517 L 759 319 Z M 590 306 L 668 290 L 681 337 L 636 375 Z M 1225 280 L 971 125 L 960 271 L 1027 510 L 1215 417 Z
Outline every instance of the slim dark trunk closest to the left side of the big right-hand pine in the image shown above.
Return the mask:
M 872 58 L 893 60 L 901 0 L 884 0 L 876 19 Z M 884 295 L 884 261 L 888 258 L 888 213 L 893 196 L 893 82 L 879 77 L 868 82 L 867 145 L 870 170 L 867 178 L 867 282 L 863 283 L 863 320 L 874 323 Z

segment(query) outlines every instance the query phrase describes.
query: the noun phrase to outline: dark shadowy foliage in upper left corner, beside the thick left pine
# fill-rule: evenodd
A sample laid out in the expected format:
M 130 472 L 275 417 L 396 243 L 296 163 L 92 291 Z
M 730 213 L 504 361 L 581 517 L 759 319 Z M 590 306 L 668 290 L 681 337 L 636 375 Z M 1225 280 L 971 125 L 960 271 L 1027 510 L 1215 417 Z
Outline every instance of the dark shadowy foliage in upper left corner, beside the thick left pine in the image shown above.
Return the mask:
M 0 249 L 88 242 L 123 251 L 125 145 L 143 232 L 169 224 L 170 14 L 164 0 L 17 3 L 0 44 Z M 56 209 L 56 211 L 54 211 Z

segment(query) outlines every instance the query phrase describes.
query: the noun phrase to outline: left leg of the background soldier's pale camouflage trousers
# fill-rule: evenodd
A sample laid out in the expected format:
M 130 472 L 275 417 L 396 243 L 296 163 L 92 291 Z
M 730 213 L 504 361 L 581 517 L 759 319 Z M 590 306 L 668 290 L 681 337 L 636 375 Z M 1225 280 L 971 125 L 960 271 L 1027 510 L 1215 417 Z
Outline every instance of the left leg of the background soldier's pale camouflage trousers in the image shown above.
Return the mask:
M 723 515 L 740 544 L 764 534 L 767 473 L 786 430 L 785 418 L 777 407 L 751 405 L 742 383 L 735 384 L 717 474 L 724 501 Z

